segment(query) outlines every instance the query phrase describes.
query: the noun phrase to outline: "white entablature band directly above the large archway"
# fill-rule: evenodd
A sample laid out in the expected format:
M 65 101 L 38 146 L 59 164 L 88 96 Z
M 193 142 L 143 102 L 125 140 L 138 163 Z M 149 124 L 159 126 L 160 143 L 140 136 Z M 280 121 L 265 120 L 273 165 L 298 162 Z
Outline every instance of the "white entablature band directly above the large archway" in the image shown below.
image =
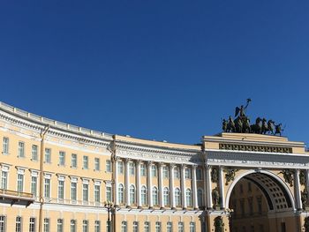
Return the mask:
M 205 153 L 207 165 L 240 168 L 309 168 L 309 155 L 306 154 L 217 150 L 207 150 Z

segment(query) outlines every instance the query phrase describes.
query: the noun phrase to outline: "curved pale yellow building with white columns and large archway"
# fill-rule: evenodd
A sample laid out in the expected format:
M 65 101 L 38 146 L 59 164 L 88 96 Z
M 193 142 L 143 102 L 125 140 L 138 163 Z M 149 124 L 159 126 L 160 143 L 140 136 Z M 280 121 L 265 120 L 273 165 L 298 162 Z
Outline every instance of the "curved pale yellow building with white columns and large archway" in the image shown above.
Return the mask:
M 0 232 L 306 231 L 302 142 L 221 133 L 173 144 L 1 103 L 0 147 Z

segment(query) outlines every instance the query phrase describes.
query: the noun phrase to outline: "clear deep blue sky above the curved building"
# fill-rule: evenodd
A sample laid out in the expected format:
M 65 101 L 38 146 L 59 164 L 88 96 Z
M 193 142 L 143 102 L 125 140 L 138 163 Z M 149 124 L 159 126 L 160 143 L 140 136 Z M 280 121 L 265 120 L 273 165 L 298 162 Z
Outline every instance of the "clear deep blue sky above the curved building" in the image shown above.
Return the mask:
M 199 143 L 236 106 L 309 142 L 308 1 L 2 1 L 0 101 Z

